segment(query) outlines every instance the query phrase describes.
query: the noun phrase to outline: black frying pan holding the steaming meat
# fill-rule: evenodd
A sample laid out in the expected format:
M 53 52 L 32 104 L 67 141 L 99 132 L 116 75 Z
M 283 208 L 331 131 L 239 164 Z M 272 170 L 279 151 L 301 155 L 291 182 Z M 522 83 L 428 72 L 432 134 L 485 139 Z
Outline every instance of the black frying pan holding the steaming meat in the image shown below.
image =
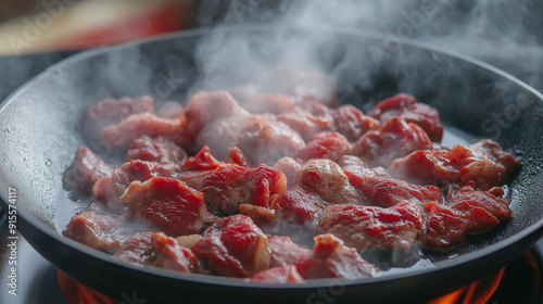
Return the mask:
M 87 107 L 123 96 L 182 101 L 199 88 L 252 80 L 276 64 L 323 69 L 338 79 L 341 101 L 363 110 L 396 92 L 412 93 L 440 111 L 449 143 L 481 137 L 500 142 L 523 162 L 508 185 L 513 218 L 455 255 L 432 256 L 437 262 L 431 267 L 295 286 L 142 268 L 61 237 L 75 210 L 85 207 L 71 202 L 61 185 L 76 147 L 109 153 L 100 143 L 84 142 L 80 125 Z M 125 293 L 148 303 L 405 303 L 497 270 L 541 237 L 542 102 L 543 96 L 496 68 L 415 42 L 315 28 L 197 29 L 75 55 L 12 94 L 0 110 L 0 192 L 7 201 L 8 186 L 17 189 L 17 227 L 40 254 L 73 278 L 117 297 Z M 1 206 L 7 208 L 4 202 Z

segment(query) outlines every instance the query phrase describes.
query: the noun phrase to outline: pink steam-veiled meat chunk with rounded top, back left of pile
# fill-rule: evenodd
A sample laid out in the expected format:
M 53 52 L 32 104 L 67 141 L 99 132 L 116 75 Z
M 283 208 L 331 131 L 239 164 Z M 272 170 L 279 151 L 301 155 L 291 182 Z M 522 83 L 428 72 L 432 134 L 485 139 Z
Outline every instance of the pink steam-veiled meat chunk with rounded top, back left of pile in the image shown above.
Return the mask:
M 195 138 L 205 125 L 224 117 L 247 114 L 227 91 L 199 91 L 185 107 L 187 134 Z

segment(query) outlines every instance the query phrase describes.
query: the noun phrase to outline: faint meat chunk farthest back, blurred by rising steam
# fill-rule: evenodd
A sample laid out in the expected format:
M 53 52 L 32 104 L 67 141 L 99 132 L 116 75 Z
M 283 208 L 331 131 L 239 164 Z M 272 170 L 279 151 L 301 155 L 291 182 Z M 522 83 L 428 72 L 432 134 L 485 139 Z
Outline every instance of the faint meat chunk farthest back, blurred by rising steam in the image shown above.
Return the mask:
M 312 100 L 333 106 L 338 101 L 336 81 L 312 69 L 301 71 L 277 66 L 264 75 L 261 86 L 263 91 L 283 93 L 295 102 Z

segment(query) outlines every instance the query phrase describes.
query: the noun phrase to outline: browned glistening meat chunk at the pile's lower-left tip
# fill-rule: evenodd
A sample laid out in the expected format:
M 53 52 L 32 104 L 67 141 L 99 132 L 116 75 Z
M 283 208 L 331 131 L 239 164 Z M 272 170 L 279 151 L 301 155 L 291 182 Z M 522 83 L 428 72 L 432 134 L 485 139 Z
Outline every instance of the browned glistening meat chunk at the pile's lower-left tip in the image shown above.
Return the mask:
M 123 241 L 121 221 L 112 216 L 92 211 L 78 212 L 62 235 L 96 250 L 115 252 Z

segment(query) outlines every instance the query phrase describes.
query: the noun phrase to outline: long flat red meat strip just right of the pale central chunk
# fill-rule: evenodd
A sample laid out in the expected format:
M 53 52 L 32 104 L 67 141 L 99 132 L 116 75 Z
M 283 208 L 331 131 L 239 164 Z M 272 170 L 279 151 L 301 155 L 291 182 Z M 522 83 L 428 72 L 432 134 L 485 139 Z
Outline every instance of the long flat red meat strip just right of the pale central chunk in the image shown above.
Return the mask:
M 361 191 L 369 205 L 393 206 L 401 201 L 441 201 L 441 193 L 433 186 L 418 186 L 400 179 L 379 176 L 356 176 L 346 172 L 351 183 Z

